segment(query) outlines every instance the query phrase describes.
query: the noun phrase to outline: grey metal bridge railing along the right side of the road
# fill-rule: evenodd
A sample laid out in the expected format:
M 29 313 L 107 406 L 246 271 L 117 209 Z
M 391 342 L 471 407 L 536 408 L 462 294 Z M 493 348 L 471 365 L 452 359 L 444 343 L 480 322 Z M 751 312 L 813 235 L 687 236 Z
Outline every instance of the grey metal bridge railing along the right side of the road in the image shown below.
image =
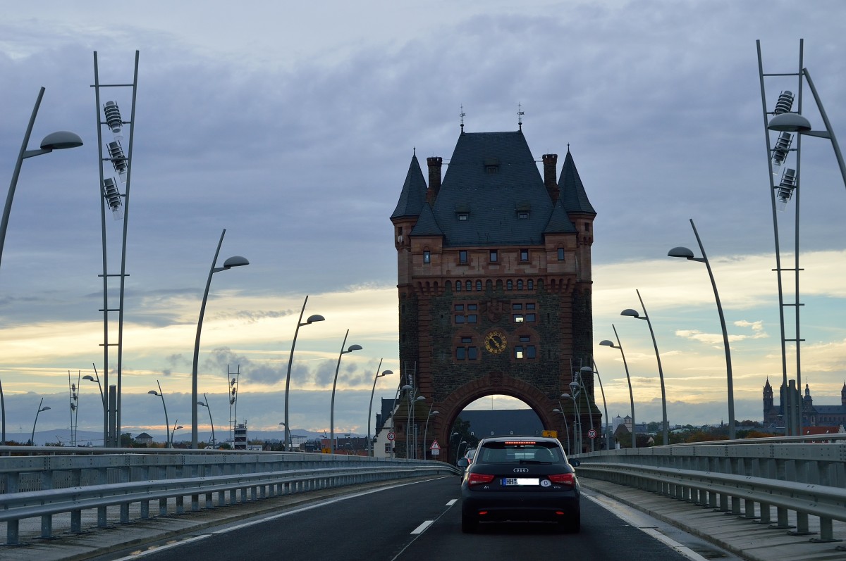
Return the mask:
M 808 534 L 809 516 L 820 520 L 820 541 L 834 541 L 832 520 L 846 521 L 846 440 L 814 437 L 814 444 L 775 440 L 603 450 L 574 456 L 577 472 L 721 509 L 744 518 Z M 807 440 L 807 438 L 805 438 Z M 747 444 L 749 443 L 749 444 Z M 758 515 L 755 515 L 755 505 Z M 742 509 L 743 507 L 743 509 Z

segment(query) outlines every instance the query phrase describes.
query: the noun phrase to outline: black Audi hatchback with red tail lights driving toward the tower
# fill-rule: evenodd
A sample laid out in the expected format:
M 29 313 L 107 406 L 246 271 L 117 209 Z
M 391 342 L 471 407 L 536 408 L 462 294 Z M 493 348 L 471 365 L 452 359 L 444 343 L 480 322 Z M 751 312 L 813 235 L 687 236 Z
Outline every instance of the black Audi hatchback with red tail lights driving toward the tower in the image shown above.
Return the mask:
M 461 531 L 480 522 L 556 522 L 580 530 L 580 488 L 574 465 L 556 438 L 485 438 L 461 482 Z

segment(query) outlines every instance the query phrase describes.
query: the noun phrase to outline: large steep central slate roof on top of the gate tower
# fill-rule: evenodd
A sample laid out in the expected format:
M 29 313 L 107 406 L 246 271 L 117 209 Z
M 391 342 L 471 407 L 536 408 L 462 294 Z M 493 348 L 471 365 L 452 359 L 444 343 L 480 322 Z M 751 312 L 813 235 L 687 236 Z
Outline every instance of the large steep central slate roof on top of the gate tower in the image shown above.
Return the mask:
M 489 173 L 489 166 L 497 172 Z M 518 210 L 528 210 L 528 219 L 519 219 Z M 541 244 L 552 210 L 541 172 L 517 131 L 461 133 L 431 212 L 445 245 L 466 247 Z M 459 221 L 459 213 L 468 219 Z M 556 223 L 561 221 L 558 216 Z M 411 235 L 431 235 L 431 226 L 418 222 Z

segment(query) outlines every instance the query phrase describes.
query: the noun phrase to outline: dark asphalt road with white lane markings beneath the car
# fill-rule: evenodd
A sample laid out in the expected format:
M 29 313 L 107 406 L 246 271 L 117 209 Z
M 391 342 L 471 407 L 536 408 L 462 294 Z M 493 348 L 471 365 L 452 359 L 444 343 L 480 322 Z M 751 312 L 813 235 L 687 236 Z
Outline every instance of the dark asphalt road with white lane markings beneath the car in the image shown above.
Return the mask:
M 482 525 L 479 534 L 463 534 L 458 479 L 443 477 L 330 499 L 154 544 L 143 553 L 135 551 L 130 556 L 124 552 L 109 558 L 145 561 L 703 559 L 679 544 L 673 546 L 672 540 L 656 539 L 655 531 L 652 535 L 647 533 L 652 526 L 649 522 L 639 524 L 631 518 L 618 518 L 588 498 L 594 494 L 587 490 L 583 494 L 579 534 L 561 534 L 554 527 L 542 524 Z M 647 527 L 647 531 L 638 526 Z

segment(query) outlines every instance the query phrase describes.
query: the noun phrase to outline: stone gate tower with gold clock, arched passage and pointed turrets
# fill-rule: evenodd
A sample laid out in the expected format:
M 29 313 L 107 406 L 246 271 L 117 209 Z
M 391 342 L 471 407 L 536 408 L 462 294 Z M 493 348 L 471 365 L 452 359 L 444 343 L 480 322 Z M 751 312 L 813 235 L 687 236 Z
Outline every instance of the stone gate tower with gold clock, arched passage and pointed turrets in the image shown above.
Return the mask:
M 602 433 L 592 375 L 596 211 L 569 150 L 558 179 L 558 155 L 541 160 L 542 177 L 522 130 L 462 130 L 446 174 L 441 157 L 426 158 L 428 187 L 411 158 L 391 215 L 406 386 L 394 419 L 398 455 L 424 457 L 426 427 L 439 457 L 450 457 L 455 418 L 486 395 L 519 398 L 559 431 L 562 417 L 552 410 L 563 408 L 572 430 L 574 400 L 561 395 L 585 366 L 582 441 L 590 418 Z

